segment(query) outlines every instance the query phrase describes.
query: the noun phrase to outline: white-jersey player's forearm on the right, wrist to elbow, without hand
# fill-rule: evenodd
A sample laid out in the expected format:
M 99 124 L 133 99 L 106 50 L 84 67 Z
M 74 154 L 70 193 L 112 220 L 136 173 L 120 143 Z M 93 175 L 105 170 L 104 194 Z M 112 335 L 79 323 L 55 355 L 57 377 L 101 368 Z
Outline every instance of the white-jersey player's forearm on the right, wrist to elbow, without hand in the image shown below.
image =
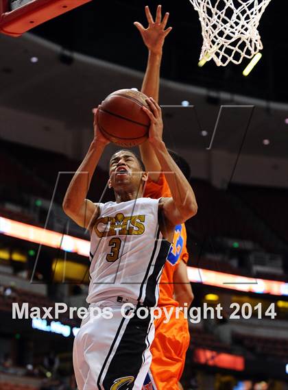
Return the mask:
M 169 155 L 165 143 L 158 141 L 151 145 L 160 162 L 160 167 L 165 173 L 176 208 L 184 220 L 193 217 L 197 212 L 197 202 L 191 185 Z

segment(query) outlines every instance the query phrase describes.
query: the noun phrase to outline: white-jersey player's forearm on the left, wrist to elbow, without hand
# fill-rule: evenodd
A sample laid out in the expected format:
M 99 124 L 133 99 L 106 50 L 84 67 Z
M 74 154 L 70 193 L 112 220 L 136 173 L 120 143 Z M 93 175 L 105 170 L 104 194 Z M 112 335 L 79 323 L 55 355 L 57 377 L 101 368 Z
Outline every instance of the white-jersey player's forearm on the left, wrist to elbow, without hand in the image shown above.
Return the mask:
M 105 145 L 97 140 L 91 143 L 82 164 L 67 188 L 63 201 L 64 210 L 77 211 L 82 206 L 104 148 Z

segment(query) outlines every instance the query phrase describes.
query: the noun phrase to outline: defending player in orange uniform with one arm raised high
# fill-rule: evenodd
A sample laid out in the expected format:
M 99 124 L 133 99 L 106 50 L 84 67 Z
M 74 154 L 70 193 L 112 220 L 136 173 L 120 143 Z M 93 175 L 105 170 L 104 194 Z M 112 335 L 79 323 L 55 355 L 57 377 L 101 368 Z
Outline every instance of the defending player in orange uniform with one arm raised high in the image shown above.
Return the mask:
M 145 8 L 148 27 L 145 29 L 139 22 L 134 24 L 139 29 L 143 41 L 149 50 L 147 69 L 142 85 L 142 92 L 158 101 L 160 62 L 165 37 L 171 27 L 165 29 L 169 14 L 161 16 L 161 6 L 158 5 L 154 21 L 149 8 Z M 149 142 L 140 146 L 141 158 L 149 171 L 149 179 L 144 195 L 147 197 L 169 197 L 170 190 L 161 173 L 156 154 L 149 147 Z M 176 162 L 178 162 L 176 159 Z M 179 166 L 180 164 L 178 164 Z M 180 169 L 182 167 L 180 166 Z M 149 370 L 143 390 L 176 390 L 182 389 L 180 377 L 184 368 L 185 355 L 189 346 L 189 329 L 187 319 L 180 313 L 176 318 L 177 306 L 190 306 L 193 300 L 191 285 L 187 276 L 186 263 L 188 252 L 186 248 L 187 234 L 184 224 L 176 226 L 173 239 L 173 249 L 169 253 L 162 277 L 160 279 L 160 295 L 158 306 L 171 310 L 171 319 L 166 324 L 165 317 L 155 321 L 155 339 L 152 343 L 152 365 Z

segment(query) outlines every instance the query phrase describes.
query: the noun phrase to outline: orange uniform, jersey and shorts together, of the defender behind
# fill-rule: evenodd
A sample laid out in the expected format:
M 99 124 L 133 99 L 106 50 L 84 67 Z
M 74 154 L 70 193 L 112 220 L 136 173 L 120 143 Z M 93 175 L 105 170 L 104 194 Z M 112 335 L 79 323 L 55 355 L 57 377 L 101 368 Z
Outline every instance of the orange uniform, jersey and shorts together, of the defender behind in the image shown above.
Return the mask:
M 163 173 L 157 183 L 148 180 L 144 196 L 159 198 L 171 197 L 168 183 Z M 159 284 L 158 306 L 172 307 L 173 315 L 165 322 L 165 315 L 154 321 L 155 338 L 151 345 L 152 363 L 142 390 L 180 390 L 178 381 L 184 369 L 185 356 L 189 347 L 190 335 L 187 319 L 180 312 L 176 318 L 178 302 L 173 299 L 173 274 L 181 260 L 187 263 L 187 235 L 184 223 L 176 226 L 173 247 L 168 254 Z

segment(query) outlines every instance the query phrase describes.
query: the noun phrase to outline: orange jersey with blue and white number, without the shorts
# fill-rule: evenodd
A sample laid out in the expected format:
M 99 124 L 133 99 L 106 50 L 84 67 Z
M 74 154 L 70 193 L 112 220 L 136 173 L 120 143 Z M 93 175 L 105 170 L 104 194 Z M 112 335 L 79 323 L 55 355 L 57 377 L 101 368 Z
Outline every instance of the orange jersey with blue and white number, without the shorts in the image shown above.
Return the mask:
M 163 173 L 160 173 L 158 182 L 147 180 L 143 196 L 154 199 L 171 197 L 171 192 Z M 189 254 L 186 243 L 187 232 L 184 223 L 182 223 L 175 228 L 173 247 L 169 252 L 160 279 L 158 306 L 178 306 L 178 302 L 173 299 L 173 274 L 180 260 L 184 260 L 185 263 L 188 261 Z

